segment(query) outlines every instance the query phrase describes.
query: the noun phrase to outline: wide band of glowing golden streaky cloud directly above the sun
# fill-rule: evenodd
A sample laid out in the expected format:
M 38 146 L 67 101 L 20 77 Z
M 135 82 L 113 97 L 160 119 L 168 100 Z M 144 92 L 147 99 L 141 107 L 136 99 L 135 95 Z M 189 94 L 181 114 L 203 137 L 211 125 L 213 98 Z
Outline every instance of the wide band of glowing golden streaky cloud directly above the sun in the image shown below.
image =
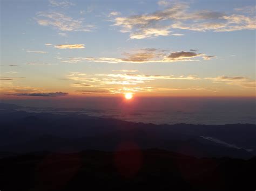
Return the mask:
M 224 82 L 228 85 L 238 85 L 240 87 L 248 88 L 253 87 L 255 82 L 242 76 L 237 77 L 198 77 L 196 75 L 144 75 L 144 74 L 85 74 L 79 72 L 72 72 L 66 76 L 67 79 L 73 80 L 70 84 L 71 87 L 86 88 L 83 90 L 77 90 L 80 93 L 85 94 L 123 94 L 127 92 L 157 92 L 157 91 L 212 91 L 218 92 L 220 87 L 201 87 L 191 86 L 186 88 L 173 88 L 173 87 L 152 87 L 152 81 L 160 80 L 191 80 L 191 81 L 214 81 Z M 154 84 L 154 83 L 153 83 Z

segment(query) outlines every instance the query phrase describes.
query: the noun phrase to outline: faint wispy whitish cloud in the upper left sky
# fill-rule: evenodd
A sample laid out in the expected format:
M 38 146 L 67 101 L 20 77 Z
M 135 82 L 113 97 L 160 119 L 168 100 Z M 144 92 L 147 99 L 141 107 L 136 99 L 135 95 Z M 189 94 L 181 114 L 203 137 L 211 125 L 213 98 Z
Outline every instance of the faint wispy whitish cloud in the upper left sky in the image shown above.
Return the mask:
M 93 25 L 84 25 L 83 19 L 73 19 L 63 13 L 50 11 L 38 12 L 36 21 L 42 26 L 52 26 L 60 31 L 91 31 Z

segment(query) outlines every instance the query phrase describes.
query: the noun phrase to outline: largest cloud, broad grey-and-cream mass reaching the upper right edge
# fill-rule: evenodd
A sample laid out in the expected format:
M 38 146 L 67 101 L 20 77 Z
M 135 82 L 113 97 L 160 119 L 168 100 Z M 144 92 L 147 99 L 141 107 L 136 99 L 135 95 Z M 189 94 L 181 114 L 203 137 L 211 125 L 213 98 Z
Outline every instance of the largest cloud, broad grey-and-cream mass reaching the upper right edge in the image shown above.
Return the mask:
M 188 3 L 159 1 L 159 5 L 168 7 L 161 11 L 116 17 L 115 26 L 120 32 L 130 33 L 130 39 L 144 39 L 169 36 L 175 30 L 227 32 L 256 29 L 255 16 L 242 15 L 240 12 L 227 15 L 210 10 L 192 11 Z

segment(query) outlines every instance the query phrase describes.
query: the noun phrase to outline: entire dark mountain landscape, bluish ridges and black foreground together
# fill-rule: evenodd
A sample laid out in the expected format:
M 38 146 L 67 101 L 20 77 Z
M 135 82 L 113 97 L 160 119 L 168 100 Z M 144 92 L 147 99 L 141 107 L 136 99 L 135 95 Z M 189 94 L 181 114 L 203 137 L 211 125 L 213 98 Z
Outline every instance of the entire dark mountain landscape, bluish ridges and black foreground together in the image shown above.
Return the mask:
M 256 125 L 154 125 L 0 106 L 1 190 L 256 188 Z

